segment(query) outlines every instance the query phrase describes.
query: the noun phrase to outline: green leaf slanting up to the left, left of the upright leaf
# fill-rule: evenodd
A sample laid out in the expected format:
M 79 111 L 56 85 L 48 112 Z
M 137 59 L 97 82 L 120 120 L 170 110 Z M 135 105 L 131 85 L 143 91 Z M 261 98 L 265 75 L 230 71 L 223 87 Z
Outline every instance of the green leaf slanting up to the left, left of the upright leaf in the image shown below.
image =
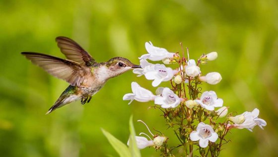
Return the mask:
M 112 147 L 120 155 L 120 157 L 132 157 L 127 145 L 125 145 L 123 142 L 115 138 L 113 135 L 111 135 L 109 132 L 105 131 L 104 129 L 101 130 L 105 135 L 105 137 L 108 139 L 109 143 L 112 145 Z

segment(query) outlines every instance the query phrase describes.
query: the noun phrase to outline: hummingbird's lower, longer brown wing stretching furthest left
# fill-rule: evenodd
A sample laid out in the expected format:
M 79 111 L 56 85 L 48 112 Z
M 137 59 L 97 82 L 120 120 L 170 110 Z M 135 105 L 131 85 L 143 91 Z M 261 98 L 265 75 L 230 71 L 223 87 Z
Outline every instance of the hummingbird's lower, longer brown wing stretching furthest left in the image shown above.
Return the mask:
M 89 68 L 71 60 L 37 52 L 21 52 L 21 54 L 51 75 L 66 80 L 72 86 L 80 86 L 84 76 L 90 73 Z

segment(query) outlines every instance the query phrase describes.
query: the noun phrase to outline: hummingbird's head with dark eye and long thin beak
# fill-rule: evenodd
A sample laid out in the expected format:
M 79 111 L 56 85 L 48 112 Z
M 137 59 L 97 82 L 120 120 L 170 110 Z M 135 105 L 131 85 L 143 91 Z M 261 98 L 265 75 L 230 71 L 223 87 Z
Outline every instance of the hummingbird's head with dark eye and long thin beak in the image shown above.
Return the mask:
M 122 73 L 135 69 L 141 68 L 140 65 L 132 63 L 129 59 L 123 57 L 114 57 L 106 62 L 106 67 L 110 73 L 110 77 L 121 75 Z

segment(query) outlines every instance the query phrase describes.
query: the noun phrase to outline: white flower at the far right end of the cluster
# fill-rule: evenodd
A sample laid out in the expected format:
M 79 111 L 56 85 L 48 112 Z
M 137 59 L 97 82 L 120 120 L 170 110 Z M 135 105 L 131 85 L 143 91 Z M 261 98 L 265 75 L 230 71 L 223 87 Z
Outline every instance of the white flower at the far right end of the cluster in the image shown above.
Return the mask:
M 233 121 L 235 124 L 230 125 L 230 128 L 238 128 L 238 129 L 243 129 L 246 128 L 249 131 L 253 131 L 252 129 L 256 126 L 259 125 L 261 129 L 264 129 L 263 127 L 267 125 L 267 122 L 264 119 L 258 118 L 260 113 L 260 110 L 258 108 L 255 108 L 252 112 L 244 112 L 240 116 L 244 116 L 245 120 L 241 124 L 237 124 L 236 121 Z

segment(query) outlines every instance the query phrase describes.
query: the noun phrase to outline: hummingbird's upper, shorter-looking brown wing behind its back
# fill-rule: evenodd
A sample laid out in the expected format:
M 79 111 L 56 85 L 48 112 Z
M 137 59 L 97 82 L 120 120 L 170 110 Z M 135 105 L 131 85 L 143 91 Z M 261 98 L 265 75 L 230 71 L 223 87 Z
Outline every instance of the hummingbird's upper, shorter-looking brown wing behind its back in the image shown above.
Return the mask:
M 64 53 L 68 59 L 86 66 L 91 66 L 96 63 L 95 59 L 92 58 L 88 52 L 70 38 L 57 37 L 56 42 L 61 52 Z

